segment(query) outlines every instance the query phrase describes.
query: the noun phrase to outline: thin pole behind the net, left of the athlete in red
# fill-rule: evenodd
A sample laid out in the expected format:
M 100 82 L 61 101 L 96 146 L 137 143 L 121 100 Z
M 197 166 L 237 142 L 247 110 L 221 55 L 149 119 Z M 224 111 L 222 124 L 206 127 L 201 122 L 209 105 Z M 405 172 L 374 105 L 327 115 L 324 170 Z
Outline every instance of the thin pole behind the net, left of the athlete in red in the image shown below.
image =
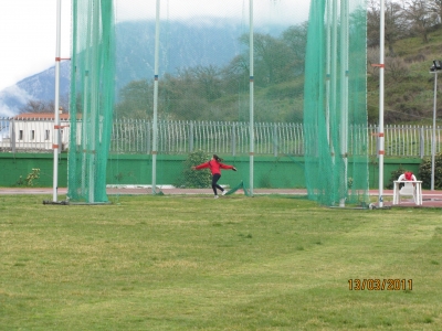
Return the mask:
M 156 26 L 155 26 L 155 73 L 154 73 L 154 121 L 152 121 L 152 194 L 157 188 L 157 153 L 158 153 L 158 65 L 159 65 L 159 6 L 157 0 Z

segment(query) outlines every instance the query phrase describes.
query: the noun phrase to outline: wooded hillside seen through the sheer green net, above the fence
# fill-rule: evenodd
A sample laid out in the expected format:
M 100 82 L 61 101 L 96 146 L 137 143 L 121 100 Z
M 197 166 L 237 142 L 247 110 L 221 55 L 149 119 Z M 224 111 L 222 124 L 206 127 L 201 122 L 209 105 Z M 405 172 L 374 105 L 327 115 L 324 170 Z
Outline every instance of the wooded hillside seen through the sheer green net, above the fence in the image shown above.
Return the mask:
M 254 35 L 254 109 L 256 121 L 302 120 L 304 50 L 307 24 L 278 36 Z M 196 65 L 159 79 L 158 114 L 178 120 L 249 120 L 249 35 L 243 52 L 224 65 Z M 133 81 L 118 94 L 117 117 L 150 118 L 154 82 Z

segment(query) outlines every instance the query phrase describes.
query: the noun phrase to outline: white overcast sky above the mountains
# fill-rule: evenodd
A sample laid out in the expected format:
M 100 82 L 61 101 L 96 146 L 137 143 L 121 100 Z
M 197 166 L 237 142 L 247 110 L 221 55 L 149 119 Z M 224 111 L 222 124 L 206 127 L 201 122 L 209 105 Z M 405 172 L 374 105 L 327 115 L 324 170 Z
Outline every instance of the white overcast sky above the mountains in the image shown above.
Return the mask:
M 110 0 L 109 0 L 110 1 Z M 254 0 L 254 22 L 308 19 L 311 0 Z M 57 0 L 0 0 L 0 90 L 55 64 Z M 71 0 L 61 0 L 61 57 L 71 54 Z M 117 0 L 116 19 L 155 18 L 156 0 Z M 249 0 L 161 0 L 161 18 L 249 20 Z

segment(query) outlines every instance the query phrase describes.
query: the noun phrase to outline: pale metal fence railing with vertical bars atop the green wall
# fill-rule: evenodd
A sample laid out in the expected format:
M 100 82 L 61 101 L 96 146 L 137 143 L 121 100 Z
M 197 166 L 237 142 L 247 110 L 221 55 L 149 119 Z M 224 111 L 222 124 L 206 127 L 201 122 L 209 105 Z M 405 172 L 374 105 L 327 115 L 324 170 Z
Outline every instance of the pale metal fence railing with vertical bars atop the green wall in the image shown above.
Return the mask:
M 81 125 L 81 120 L 77 122 Z M 62 147 L 70 140 L 67 121 L 60 130 Z M 220 154 L 241 156 L 250 152 L 248 122 L 233 121 L 179 121 L 158 122 L 158 153 L 183 154 L 204 150 Z M 441 127 L 435 130 L 435 151 L 441 152 Z M 349 154 L 377 156 L 378 127 L 354 126 L 349 129 Z M 50 119 L 0 118 L 0 151 L 25 152 L 52 150 L 53 122 Z M 152 122 L 140 119 L 115 120 L 112 132 L 110 152 L 150 153 L 152 149 Z M 431 156 L 433 129 L 431 126 L 385 126 L 385 150 L 387 157 Z M 80 138 L 77 137 L 77 140 Z M 256 122 L 254 125 L 254 153 L 256 156 L 303 156 L 303 124 Z

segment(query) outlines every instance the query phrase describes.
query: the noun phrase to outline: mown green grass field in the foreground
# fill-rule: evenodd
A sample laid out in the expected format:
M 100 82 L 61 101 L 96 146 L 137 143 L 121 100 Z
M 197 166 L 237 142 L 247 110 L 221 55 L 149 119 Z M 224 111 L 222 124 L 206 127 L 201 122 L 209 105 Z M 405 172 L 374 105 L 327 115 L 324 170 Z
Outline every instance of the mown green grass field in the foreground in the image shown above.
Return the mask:
M 110 199 L 0 196 L 0 330 L 442 329 L 441 210 Z

